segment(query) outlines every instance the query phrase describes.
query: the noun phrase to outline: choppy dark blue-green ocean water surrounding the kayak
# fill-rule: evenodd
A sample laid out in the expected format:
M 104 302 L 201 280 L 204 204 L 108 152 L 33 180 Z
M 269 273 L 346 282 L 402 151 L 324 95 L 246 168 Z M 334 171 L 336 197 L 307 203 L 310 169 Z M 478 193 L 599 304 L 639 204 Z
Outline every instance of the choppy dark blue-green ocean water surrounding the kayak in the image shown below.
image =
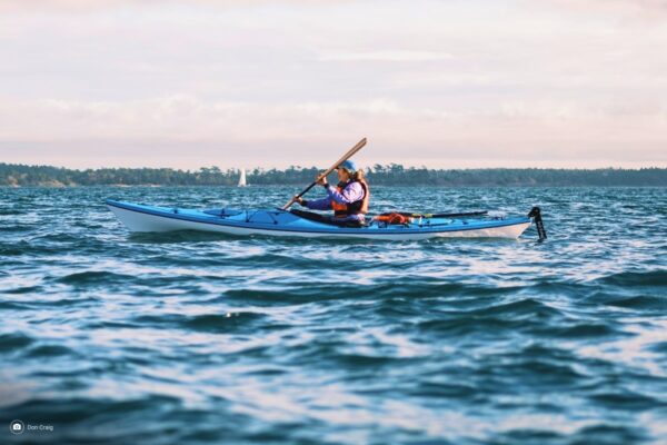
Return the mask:
M 0 443 L 667 443 L 667 189 L 374 189 L 540 205 L 545 243 L 130 236 L 102 205 L 295 191 L 0 189 Z

